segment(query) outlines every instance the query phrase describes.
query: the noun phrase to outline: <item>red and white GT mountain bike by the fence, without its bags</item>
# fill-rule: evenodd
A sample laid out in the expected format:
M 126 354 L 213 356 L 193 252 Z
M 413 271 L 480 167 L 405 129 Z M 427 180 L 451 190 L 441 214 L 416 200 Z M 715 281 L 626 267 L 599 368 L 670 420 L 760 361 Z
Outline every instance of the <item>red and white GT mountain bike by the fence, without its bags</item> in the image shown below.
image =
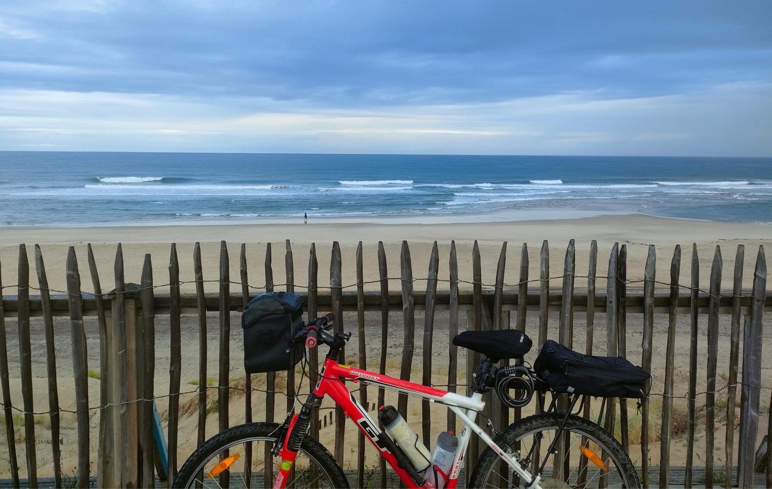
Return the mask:
M 231 481 L 243 487 L 260 484 L 264 487 L 349 487 L 344 470 L 330 452 L 307 435 L 312 411 L 320 407 L 324 396 L 330 396 L 354 420 L 405 486 L 434 487 L 371 419 L 348 390 L 346 381 L 441 403 L 458 416 L 463 430 L 445 487 L 453 488 L 458 484 L 472 433 L 487 448 L 472 470 L 469 487 L 640 487 L 628 454 L 610 433 L 601 428 L 602 414 L 597 423 L 574 414 L 580 397 L 582 402 L 577 412 L 581 412 L 585 396 L 576 394 L 566 399 L 552 392 L 552 402 L 544 410 L 544 396 L 540 395 L 543 413 L 528 416 L 499 433 L 493 432 L 493 437 L 475 423 L 485 406 L 483 394 L 493 388 L 510 406 L 526 405 L 536 391 L 550 392 L 549 386 L 533 369 L 522 363 L 506 367 L 494 365 L 500 358 L 490 353 L 495 350 L 496 355 L 503 356 L 500 344 L 491 346 L 493 337 L 490 333 L 494 332 L 466 332 L 466 347 L 479 352 L 484 359 L 474 376 L 472 396 L 462 396 L 340 365 L 338 354 L 350 333 L 328 333 L 327 330 L 332 328 L 332 317 L 328 314 L 311 320 L 293 339 L 293 345 L 305 342 L 307 348 L 314 348 L 318 343 L 330 347 L 317 383 L 302 403 L 300 413 L 290 411 L 281 424 L 248 423 L 218 433 L 185 461 L 172 487 L 227 487 Z M 495 333 L 499 334 L 497 338 L 523 334 L 516 330 Z M 508 356 L 522 359 L 522 355 L 514 352 Z M 515 396 L 510 395 L 512 390 Z M 559 411 L 558 405 L 567 406 L 567 409 Z M 493 428 L 490 421 L 488 425 Z M 263 459 L 252 460 L 253 454 L 262 454 Z

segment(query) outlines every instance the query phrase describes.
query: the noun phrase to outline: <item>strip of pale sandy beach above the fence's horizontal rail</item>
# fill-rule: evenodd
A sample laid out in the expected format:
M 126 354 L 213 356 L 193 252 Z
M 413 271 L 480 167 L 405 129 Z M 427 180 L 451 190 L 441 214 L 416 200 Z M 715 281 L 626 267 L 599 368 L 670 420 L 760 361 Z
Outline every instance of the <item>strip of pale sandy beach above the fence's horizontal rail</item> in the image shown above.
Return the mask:
M 443 218 L 447 220 L 447 218 Z M 126 282 L 139 282 L 144 255 L 153 258 L 157 284 L 167 283 L 170 243 L 177 243 L 180 261 L 180 278 L 191 281 L 193 276 L 193 245 L 201 243 L 201 256 L 205 279 L 219 276 L 220 241 L 229 246 L 231 277 L 239 276 L 239 246 L 246 244 L 249 282 L 264 285 L 264 260 L 266 243 L 273 248 L 274 282 L 284 282 L 285 240 L 292 243 L 296 283 L 306 284 L 310 243 L 317 245 L 319 283 L 329 283 L 330 246 L 339 241 L 343 260 L 344 285 L 356 282 L 354 259 L 357 242 L 362 241 L 364 250 L 364 279 L 378 278 L 378 241 L 384 242 L 388 270 L 391 277 L 398 276 L 401 241 L 410 245 L 413 276 L 425 277 L 432 241 L 438 242 L 439 276 L 448 278 L 450 243 L 455 240 L 459 259 L 459 278 L 472 280 L 472 245 L 478 241 L 482 260 L 482 281 L 493 283 L 496 264 L 503 241 L 507 241 L 505 282 L 516 283 L 520 273 L 520 255 L 523 243 L 528 245 L 530 277 L 539 273 L 539 254 L 543 240 L 550 245 L 550 276 L 563 275 L 566 247 L 574 239 L 576 274 L 587 273 L 587 261 L 592 240 L 598 241 L 598 275 L 608 268 L 608 253 L 615 242 L 627 245 L 628 278 L 642 278 L 648 245 L 657 246 L 657 277 L 669 281 L 670 261 L 675 245 L 682 247 L 681 283 L 689 284 L 692 243 L 697 244 L 700 260 L 700 283 L 707 284 L 710 262 L 716 245 L 722 245 L 723 264 L 727 276 L 733 270 L 736 245 L 746 246 L 744 278 L 747 284 L 753 276 L 753 266 L 758 245 L 772 242 L 772 226 L 768 224 L 740 224 L 715 221 L 689 221 L 655 218 L 643 214 L 604 215 L 578 219 L 550 219 L 541 221 L 500 221 L 495 215 L 482 214 L 468 222 L 396 221 L 392 218 L 369 218 L 369 221 L 329 219 L 311 224 L 188 224 L 156 226 L 103 226 L 92 228 L 4 228 L 0 232 L 0 262 L 2 283 L 13 285 L 17 281 L 16 264 L 20 243 L 27 245 L 30 263 L 34 264 L 33 246 L 39 244 L 46 261 L 51 288 L 65 288 L 64 263 L 70 245 L 76 247 L 81 264 L 83 290 L 93 288 L 86 270 L 86 244 L 93 246 L 97 268 L 103 287 L 113 283 L 113 263 L 117 243 L 122 244 Z M 30 282 L 36 284 L 34 271 Z M 725 283 L 725 286 L 729 282 Z M 577 287 L 584 282 L 577 281 Z M 442 286 L 442 285 L 440 285 Z M 550 286 L 560 286 L 554 279 Z M 377 288 L 378 284 L 369 284 Z M 216 284 L 208 284 L 216 289 Z M 8 289 L 6 289 L 7 291 Z M 163 288 L 161 288 L 163 290 Z M 183 286 L 184 292 L 193 290 Z M 12 292 L 5 292 L 6 294 Z

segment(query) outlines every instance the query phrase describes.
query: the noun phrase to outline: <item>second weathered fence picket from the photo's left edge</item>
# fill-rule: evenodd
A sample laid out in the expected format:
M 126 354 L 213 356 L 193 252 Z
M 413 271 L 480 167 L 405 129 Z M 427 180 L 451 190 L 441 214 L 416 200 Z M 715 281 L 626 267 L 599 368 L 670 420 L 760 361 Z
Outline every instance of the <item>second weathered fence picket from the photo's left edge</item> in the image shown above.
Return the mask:
M 17 300 L 19 315 L 16 317 L 19 332 L 19 363 L 22 370 L 22 403 L 24 406 L 24 436 L 35 440 L 35 401 L 32 397 L 32 346 L 29 339 L 29 261 L 27 247 L 19 245 L 19 285 Z M 35 443 L 25 443 L 27 477 L 29 487 L 38 486 L 38 457 Z

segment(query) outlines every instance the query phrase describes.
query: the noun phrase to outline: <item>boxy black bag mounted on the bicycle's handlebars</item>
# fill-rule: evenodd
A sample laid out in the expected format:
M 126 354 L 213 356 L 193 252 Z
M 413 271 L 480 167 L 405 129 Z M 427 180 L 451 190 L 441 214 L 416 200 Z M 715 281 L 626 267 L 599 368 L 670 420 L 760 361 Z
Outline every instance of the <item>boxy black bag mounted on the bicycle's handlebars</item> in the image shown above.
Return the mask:
M 303 299 L 292 292 L 266 292 L 242 312 L 246 373 L 291 369 L 303 357 L 303 345 L 289 348 L 303 325 Z

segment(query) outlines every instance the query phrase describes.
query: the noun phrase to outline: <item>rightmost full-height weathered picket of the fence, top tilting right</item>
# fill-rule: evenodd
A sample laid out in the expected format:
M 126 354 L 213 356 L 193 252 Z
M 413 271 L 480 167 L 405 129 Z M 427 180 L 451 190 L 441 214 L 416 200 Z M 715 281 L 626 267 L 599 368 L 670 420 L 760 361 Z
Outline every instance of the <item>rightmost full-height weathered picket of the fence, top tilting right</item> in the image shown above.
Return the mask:
M 753 483 L 753 461 L 759 425 L 761 385 L 761 353 L 764 329 L 764 296 L 767 292 L 767 259 L 764 246 L 759 247 L 756 269 L 753 271 L 753 292 L 750 315 L 745 324 L 743 341 L 743 387 L 740 395 L 740 443 L 738 444 L 738 483 L 750 487 Z

